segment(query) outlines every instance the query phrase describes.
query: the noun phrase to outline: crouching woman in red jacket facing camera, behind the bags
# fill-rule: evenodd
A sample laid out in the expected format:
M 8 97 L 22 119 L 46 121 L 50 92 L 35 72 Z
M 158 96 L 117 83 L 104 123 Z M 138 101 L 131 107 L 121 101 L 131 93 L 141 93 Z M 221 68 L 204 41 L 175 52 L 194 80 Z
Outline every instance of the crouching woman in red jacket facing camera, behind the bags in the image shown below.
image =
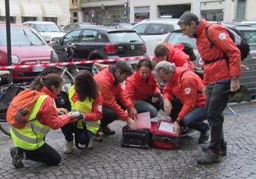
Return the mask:
M 153 65 L 150 60 L 142 59 L 136 68 L 137 72 L 125 81 L 125 92 L 134 102 L 137 112 L 150 112 L 150 117 L 154 118 L 160 109 L 162 97 L 152 72 Z

